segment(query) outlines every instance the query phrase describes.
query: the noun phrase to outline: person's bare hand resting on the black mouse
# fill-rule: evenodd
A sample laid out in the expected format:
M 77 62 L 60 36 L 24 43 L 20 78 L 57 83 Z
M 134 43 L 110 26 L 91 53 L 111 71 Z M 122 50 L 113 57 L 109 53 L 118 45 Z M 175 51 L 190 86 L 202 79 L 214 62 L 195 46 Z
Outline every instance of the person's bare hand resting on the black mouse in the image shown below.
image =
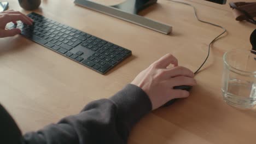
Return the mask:
M 174 67 L 167 68 L 170 64 Z M 178 60 L 171 54 L 167 54 L 139 73 L 131 83 L 148 94 L 152 109 L 155 110 L 174 98 L 188 97 L 188 91 L 173 89 L 173 87 L 194 86 L 196 80 L 193 71 L 178 66 Z

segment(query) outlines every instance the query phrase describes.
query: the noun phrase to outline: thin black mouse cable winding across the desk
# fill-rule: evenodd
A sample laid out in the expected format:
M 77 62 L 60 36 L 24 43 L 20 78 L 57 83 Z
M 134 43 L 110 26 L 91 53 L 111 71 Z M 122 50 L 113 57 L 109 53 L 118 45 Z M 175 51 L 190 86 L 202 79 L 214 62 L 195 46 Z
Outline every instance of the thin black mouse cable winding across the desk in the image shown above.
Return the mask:
M 216 25 L 216 24 L 214 24 L 214 23 L 200 20 L 200 19 L 197 17 L 196 8 L 194 7 L 194 5 L 191 5 L 191 4 L 189 4 L 189 3 L 184 3 L 184 2 L 173 1 L 173 0 L 166 0 L 166 1 L 171 1 L 171 2 L 175 2 L 175 3 L 181 3 L 181 4 L 189 5 L 190 7 L 193 7 L 193 8 L 194 8 L 194 14 L 195 14 L 195 17 L 196 17 L 196 19 L 197 19 L 198 21 L 203 22 L 203 23 L 207 23 L 207 24 L 212 25 L 212 26 L 216 26 L 216 27 L 222 28 L 222 29 L 224 30 L 221 34 L 219 34 L 216 38 L 214 38 L 214 39 L 211 41 L 211 43 L 209 44 L 207 57 L 205 58 L 205 61 L 202 63 L 202 65 L 199 67 L 199 69 L 197 69 L 197 70 L 195 71 L 194 74 L 196 74 L 196 73 L 202 68 L 202 66 L 205 64 L 205 62 L 207 61 L 207 59 L 208 59 L 208 57 L 209 57 L 209 55 L 210 55 L 210 48 L 211 48 L 212 43 L 213 43 L 214 41 L 216 41 L 216 39 L 218 39 L 222 34 L 224 34 L 224 33 L 226 32 L 226 29 L 225 29 L 224 27 L 219 26 L 219 25 Z

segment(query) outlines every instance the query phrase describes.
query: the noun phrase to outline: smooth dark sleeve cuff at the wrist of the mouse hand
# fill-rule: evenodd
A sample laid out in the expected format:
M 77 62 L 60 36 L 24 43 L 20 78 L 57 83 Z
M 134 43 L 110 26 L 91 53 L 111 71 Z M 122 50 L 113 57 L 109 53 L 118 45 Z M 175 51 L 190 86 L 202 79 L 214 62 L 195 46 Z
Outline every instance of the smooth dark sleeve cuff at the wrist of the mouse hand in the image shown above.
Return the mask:
M 148 95 L 139 87 L 128 84 L 110 98 L 118 107 L 118 119 L 128 128 L 152 110 Z

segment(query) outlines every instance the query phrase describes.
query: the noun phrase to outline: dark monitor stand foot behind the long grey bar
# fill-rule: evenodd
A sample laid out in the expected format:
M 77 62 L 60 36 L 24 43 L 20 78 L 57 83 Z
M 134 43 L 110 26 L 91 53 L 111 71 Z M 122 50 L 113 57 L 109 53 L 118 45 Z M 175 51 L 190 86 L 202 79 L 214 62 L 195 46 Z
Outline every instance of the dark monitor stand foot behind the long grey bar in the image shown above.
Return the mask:
M 148 8 L 150 5 L 155 4 L 158 0 L 126 0 L 123 3 L 112 5 L 111 7 L 118 8 L 127 13 L 138 14 L 139 11 Z

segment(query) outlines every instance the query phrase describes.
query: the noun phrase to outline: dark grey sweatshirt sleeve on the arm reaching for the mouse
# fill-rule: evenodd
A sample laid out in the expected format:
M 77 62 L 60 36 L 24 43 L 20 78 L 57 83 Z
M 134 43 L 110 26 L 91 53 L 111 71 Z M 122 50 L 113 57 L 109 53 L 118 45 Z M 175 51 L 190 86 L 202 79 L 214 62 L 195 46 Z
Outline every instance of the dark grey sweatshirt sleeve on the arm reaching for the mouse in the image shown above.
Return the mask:
M 78 115 L 63 118 L 59 123 L 50 124 L 37 132 L 27 133 L 22 140 L 17 126 L 4 127 L 2 131 L 26 144 L 121 144 L 127 143 L 133 125 L 151 110 L 148 95 L 141 88 L 129 84 L 110 99 L 92 101 Z M 0 116 L 4 113 L 7 112 L 1 109 Z M 10 121 L 11 117 L 4 118 L 8 125 L 16 125 Z M 2 123 L 0 125 L 2 128 Z

